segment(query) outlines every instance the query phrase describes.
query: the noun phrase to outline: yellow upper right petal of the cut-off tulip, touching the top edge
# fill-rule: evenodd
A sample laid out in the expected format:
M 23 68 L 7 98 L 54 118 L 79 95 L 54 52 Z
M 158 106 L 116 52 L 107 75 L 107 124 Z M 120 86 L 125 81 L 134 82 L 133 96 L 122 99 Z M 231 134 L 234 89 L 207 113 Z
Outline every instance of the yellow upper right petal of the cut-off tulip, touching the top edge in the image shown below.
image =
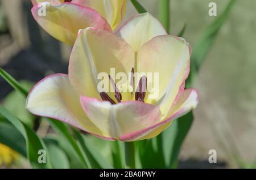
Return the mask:
M 125 15 L 127 0 L 73 0 L 72 3 L 93 8 L 115 29 Z

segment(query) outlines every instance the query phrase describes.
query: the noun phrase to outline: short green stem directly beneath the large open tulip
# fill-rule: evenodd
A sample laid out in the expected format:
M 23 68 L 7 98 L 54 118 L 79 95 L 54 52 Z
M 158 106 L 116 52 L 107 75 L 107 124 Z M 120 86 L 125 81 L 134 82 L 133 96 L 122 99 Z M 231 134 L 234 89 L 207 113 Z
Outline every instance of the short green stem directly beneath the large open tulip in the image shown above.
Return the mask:
M 127 168 L 135 168 L 135 145 L 134 142 L 125 142 L 125 163 Z

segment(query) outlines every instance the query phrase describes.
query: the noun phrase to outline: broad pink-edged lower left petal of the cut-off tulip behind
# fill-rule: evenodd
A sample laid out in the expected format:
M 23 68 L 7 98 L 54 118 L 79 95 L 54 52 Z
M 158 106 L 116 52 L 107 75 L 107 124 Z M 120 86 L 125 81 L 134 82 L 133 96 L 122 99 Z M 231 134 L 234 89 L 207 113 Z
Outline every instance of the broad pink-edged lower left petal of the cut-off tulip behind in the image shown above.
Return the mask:
M 74 3 L 52 5 L 43 2 L 35 5 L 31 11 L 36 22 L 46 32 L 69 45 L 74 44 L 79 29 L 95 27 L 112 31 L 108 22 L 97 11 Z

